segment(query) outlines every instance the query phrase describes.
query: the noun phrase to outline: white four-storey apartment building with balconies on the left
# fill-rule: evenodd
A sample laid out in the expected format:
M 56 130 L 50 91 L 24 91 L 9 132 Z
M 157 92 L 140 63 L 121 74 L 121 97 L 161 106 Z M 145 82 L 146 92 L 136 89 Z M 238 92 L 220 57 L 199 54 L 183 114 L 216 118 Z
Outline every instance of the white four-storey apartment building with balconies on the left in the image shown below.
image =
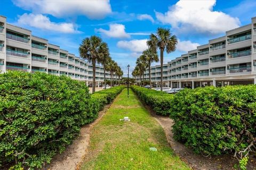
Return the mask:
M 4 16 L 0 16 L 0 70 L 2 73 L 19 70 L 67 75 L 85 81 L 87 85 L 92 84 L 93 79 L 92 64 L 44 38 L 33 36 L 30 30 L 6 23 Z M 110 79 L 109 72 L 106 72 L 106 78 Z M 96 66 L 96 81 L 98 86 L 104 81 L 100 65 Z

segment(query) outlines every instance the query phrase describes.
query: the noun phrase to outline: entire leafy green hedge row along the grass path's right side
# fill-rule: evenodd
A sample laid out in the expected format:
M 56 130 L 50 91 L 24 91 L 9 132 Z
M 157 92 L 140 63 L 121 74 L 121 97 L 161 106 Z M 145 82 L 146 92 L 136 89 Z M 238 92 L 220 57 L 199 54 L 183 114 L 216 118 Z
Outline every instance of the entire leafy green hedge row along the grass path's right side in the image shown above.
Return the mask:
M 256 149 L 256 86 L 226 86 L 185 89 L 157 105 L 151 98 L 159 96 L 152 90 L 135 87 L 138 96 L 158 113 L 170 114 L 174 120 L 174 138 L 204 155 L 233 152 L 241 159 Z M 156 97 L 156 98 L 157 98 Z M 160 100 L 160 99 L 159 99 Z M 247 149 L 246 149 L 247 148 Z M 244 152 L 243 152 L 244 151 Z M 246 160 L 244 158 L 243 160 Z M 242 160 L 242 164 L 243 164 Z M 244 163 L 246 164 L 246 163 Z M 241 166 L 242 167 L 242 166 Z

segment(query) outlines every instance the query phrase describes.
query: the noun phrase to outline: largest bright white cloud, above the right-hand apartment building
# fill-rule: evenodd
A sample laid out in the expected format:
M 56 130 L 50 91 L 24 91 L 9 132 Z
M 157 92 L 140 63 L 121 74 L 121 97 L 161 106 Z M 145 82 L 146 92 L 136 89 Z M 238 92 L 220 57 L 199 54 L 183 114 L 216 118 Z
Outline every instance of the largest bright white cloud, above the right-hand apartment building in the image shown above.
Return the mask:
M 180 0 L 169 7 L 166 13 L 156 13 L 157 20 L 164 24 L 171 24 L 174 29 L 197 31 L 202 33 L 222 33 L 239 27 L 238 18 L 213 11 L 216 0 Z

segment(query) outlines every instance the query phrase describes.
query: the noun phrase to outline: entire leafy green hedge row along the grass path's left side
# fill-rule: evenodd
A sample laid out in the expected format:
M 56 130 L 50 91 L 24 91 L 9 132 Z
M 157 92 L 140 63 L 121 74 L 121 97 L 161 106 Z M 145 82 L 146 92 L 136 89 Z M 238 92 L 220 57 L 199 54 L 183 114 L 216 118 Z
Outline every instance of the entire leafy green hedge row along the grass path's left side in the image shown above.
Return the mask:
M 121 89 L 90 95 L 84 82 L 66 76 L 0 74 L 0 169 L 34 169 L 50 163 Z

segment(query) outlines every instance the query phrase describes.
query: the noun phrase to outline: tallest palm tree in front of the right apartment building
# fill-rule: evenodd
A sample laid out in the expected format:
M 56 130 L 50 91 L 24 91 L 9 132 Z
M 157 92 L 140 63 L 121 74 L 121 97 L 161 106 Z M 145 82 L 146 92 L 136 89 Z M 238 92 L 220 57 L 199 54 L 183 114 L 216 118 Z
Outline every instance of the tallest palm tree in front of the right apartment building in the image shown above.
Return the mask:
M 174 52 L 178 44 L 177 37 L 172 36 L 170 29 L 157 28 L 156 34 L 151 33 L 147 45 L 155 52 L 160 49 L 160 64 L 161 64 L 161 91 L 163 91 L 163 61 L 164 51 L 167 53 Z

